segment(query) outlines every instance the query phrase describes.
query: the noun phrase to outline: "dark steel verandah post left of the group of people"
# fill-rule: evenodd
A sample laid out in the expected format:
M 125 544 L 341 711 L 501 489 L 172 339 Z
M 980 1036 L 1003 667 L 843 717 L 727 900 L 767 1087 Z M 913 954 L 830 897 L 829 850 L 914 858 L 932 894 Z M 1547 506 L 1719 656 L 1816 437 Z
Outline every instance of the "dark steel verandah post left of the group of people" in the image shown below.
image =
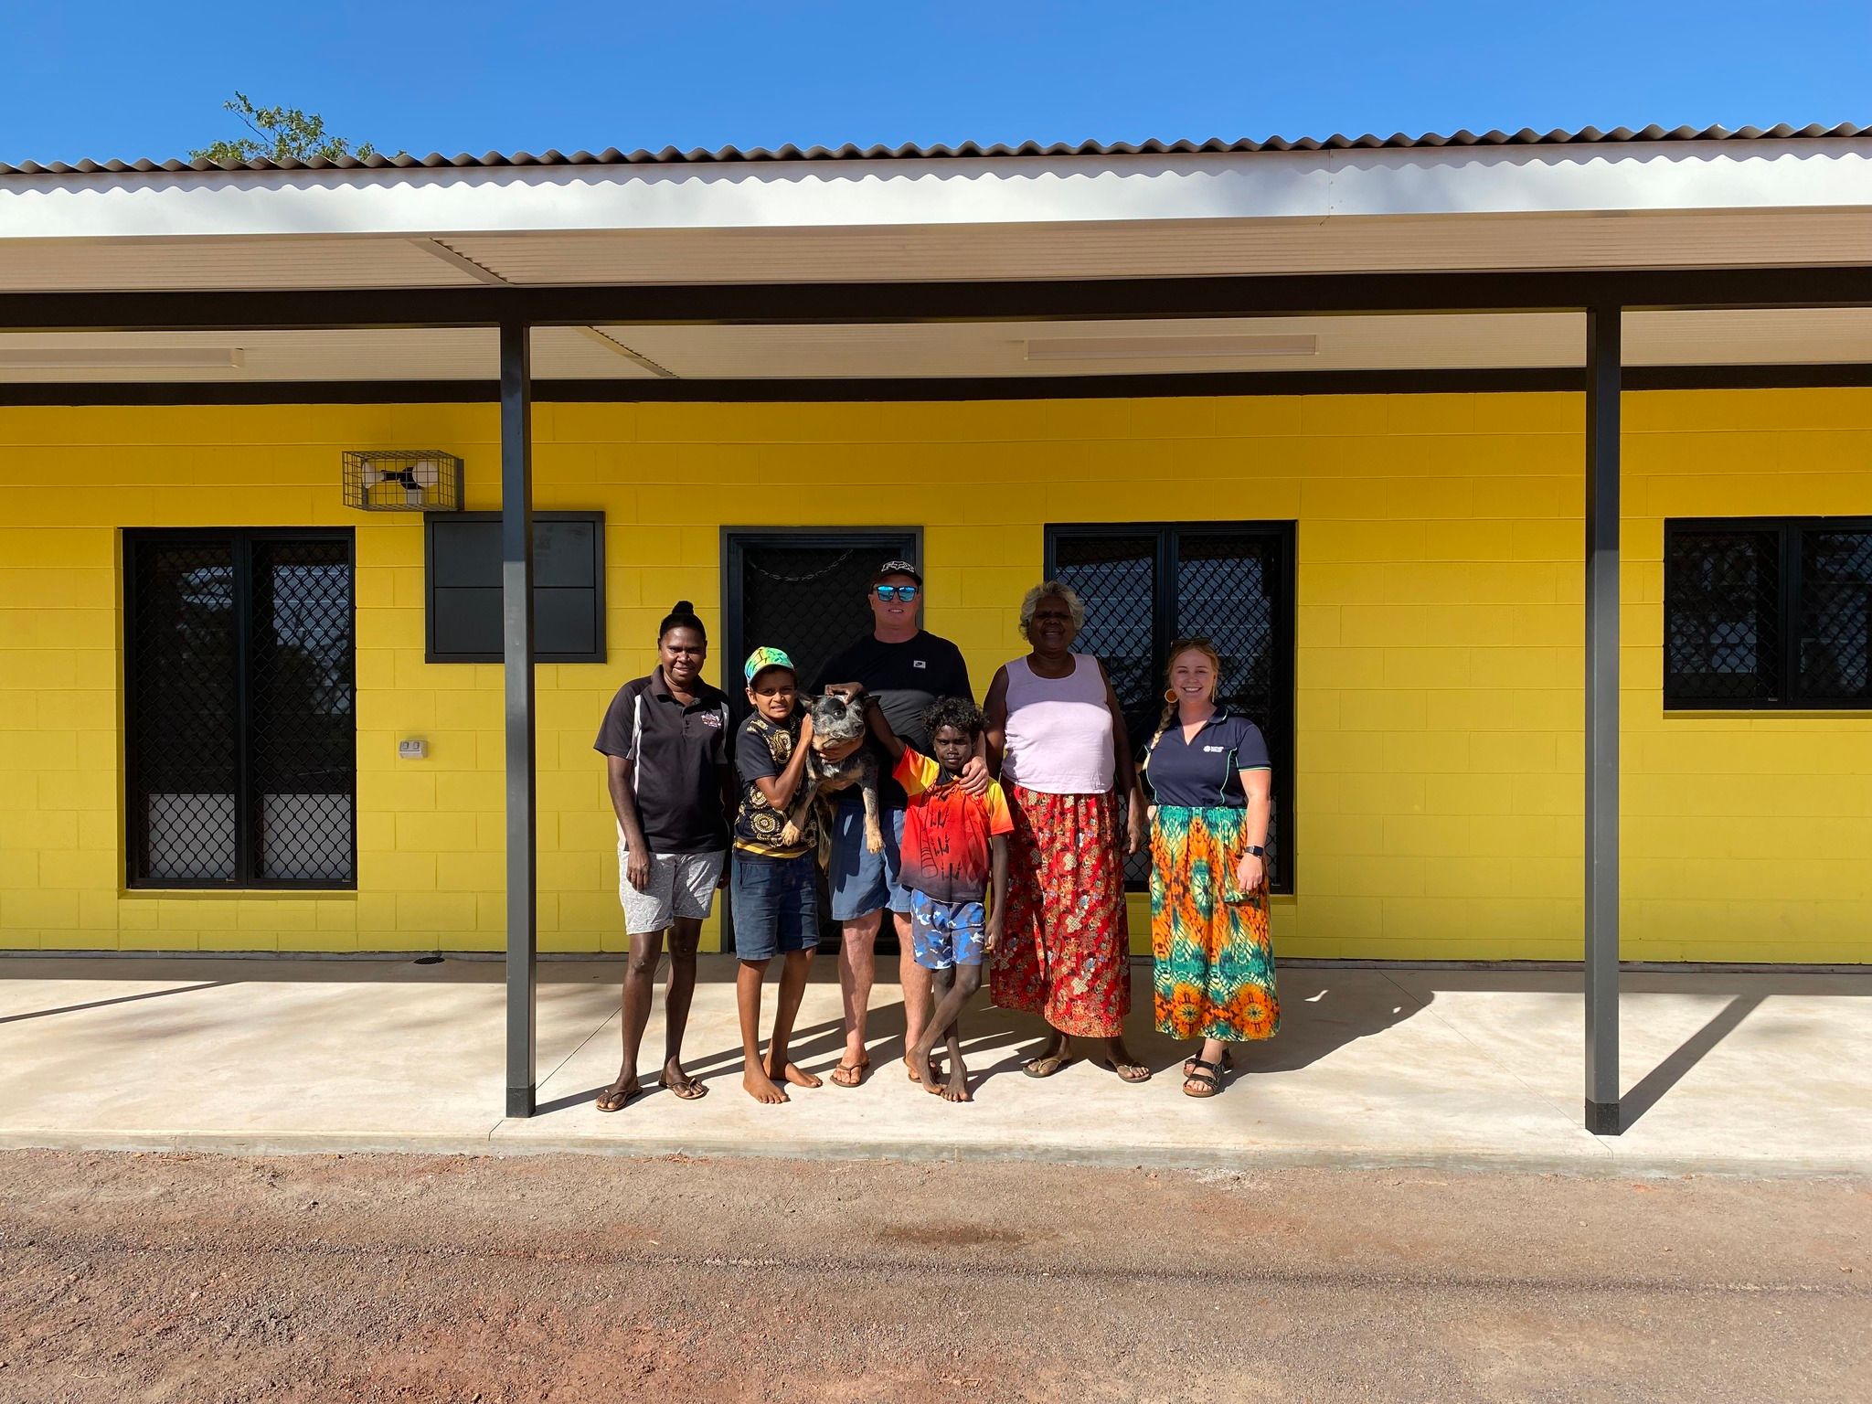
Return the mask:
M 534 758 L 532 328 L 500 324 L 500 614 L 507 781 L 507 1116 L 535 1093 L 539 900 Z

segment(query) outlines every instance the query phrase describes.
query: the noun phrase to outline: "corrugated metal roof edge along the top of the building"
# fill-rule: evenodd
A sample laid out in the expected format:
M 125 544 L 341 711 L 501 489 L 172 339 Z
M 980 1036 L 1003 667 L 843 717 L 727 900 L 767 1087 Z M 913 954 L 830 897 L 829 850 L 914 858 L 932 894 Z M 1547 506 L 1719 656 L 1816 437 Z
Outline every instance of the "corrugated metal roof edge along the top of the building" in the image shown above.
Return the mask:
M 1204 142 L 1194 140 L 1146 140 L 1146 142 L 1052 142 L 1043 146 L 1041 142 L 1020 142 L 1018 146 L 994 144 L 979 146 L 977 142 L 962 142 L 960 146 L 779 146 L 766 148 L 754 146 L 741 150 L 738 146 L 719 146 L 715 150 L 680 150 L 676 146 L 665 146 L 659 152 L 636 150 L 620 152 L 616 146 L 603 152 L 573 152 L 571 155 L 563 152 L 541 152 L 534 155 L 532 152 L 487 152 L 483 155 L 468 155 L 466 152 L 459 155 L 442 155 L 440 152 L 431 152 L 429 155 L 371 155 L 359 161 L 354 155 L 343 155 L 337 161 L 243 161 L 236 165 L 219 165 L 215 161 L 52 161 L 51 165 L 41 165 L 37 161 L 26 161 L 22 165 L 0 163 L 0 176 L 120 176 L 120 174 L 139 174 L 139 172 L 187 172 L 187 170 L 410 170 L 410 168 L 492 168 L 492 167 L 616 167 L 616 165 L 721 165 L 738 161 L 943 161 L 943 159 L 983 159 L 983 157 L 1016 157 L 1016 155 L 1041 155 L 1041 157 L 1097 157 L 1097 155 L 1239 155 L 1252 152 L 1353 152 L 1353 150 L 1398 150 L 1398 148 L 1440 148 L 1440 146 L 1572 146 L 1572 144 L 1593 144 L 1593 142 L 1715 142 L 1715 140 L 1844 140 L 1853 137 L 1872 137 L 1872 127 L 1857 125 L 1851 122 L 1840 122 L 1831 127 L 1823 127 L 1818 122 L 1806 127 L 1790 127 L 1780 124 L 1777 127 L 1614 127 L 1612 131 L 1601 131 L 1599 127 L 1580 127 L 1578 131 L 1563 131 L 1556 127 L 1554 131 L 1533 131 L 1531 127 L 1522 127 L 1520 131 L 1455 131 L 1449 135 L 1425 133 L 1421 137 L 1408 137 L 1402 131 L 1391 137 L 1376 137 L 1367 133 L 1363 137 L 1299 137 L 1288 140 L 1286 137 L 1269 137 L 1267 140 L 1222 140 L 1213 137 Z

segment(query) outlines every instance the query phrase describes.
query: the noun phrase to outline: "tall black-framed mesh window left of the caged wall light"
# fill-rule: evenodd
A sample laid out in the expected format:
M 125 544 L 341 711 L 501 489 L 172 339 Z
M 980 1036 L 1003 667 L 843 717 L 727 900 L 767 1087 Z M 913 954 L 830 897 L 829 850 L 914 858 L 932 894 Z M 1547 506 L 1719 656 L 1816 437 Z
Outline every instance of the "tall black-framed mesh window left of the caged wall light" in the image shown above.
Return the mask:
M 139 887 L 356 885 L 350 532 L 127 532 Z

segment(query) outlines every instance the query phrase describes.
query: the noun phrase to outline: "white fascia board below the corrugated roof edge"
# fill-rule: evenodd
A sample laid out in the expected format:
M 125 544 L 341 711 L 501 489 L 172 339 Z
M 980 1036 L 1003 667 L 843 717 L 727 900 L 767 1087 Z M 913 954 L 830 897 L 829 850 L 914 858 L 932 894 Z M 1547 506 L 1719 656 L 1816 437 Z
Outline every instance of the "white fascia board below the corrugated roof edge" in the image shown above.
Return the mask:
M 0 240 L 1872 210 L 1865 140 L 0 180 Z

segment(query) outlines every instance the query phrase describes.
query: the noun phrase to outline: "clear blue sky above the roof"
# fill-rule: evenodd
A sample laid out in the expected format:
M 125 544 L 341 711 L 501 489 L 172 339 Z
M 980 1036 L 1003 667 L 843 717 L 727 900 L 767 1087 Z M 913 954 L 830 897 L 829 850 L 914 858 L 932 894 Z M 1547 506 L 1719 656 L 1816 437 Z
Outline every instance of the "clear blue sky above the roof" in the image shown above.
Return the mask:
M 183 22 L 178 17 L 187 15 Z M 0 161 L 1872 124 L 1872 4 L 0 0 Z

